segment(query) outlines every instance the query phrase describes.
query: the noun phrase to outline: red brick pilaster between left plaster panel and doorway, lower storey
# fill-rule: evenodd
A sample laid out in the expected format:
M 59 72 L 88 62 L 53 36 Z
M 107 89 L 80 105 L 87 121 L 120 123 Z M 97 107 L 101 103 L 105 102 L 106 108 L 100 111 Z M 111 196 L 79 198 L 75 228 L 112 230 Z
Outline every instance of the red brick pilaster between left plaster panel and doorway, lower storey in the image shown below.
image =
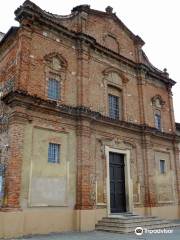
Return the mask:
M 90 158 L 90 122 L 80 120 L 77 126 L 77 199 L 76 209 L 93 209 L 95 204 L 94 164 Z

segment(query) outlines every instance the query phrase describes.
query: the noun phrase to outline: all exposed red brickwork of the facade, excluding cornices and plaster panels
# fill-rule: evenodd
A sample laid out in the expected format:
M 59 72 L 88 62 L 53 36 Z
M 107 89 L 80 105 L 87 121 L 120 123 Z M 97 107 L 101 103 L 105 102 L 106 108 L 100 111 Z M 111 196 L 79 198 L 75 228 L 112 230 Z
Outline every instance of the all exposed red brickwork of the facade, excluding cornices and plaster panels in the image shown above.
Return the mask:
M 106 44 L 104 40 L 106 35 L 111 33 L 112 37 L 117 36 L 119 53 L 134 63 L 138 62 L 137 46 L 127 32 L 114 20 L 109 17 L 102 18 L 97 15 L 89 15 L 87 22 L 83 23 L 86 26 L 80 29 L 81 20 L 74 18 L 72 21 L 68 20 L 64 25 L 75 31 L 83 30 L 103 46 Z M 163 131 L 173 133 L 175 123 L 172 99 L 165 83 L 160 82 L 155 77 L 149 77 L 143 70 L 137 70 L 130 64 L 122 63 L 112 54 L 108 55 L 103 51 L 97 51 L 93 44 L 86 44 L 85 41 L 70 38 L 39 23 L 33 24 L 30 22 L 27 25 L 23 22 L 16 38 L 17 40 L 14 40 L 12 45 L 9 46 L 6 55 L 4 54 L 4 57 L 0 55 L 0 70 L 4 69 L 6 72 L 4 74 L 1 70 L 0 82 L 6 81 L 14 74 L 16 76 L 15 89 L 26 91 L 29 95 L 47 100 L 47 71 L 51 72 L 52 69 L 47 70 L 45 56 L 57 53 L 67 62 L 62 78 L 63 101 L 59 101 L 59 104 L 83 105 L 100 112 L 102 115 L 108 115 L 107 94 L 108 86 L 111 85 L 122 93 L 122 119 L 124 121 L 154 127 L 154 110 L 151 100 L 155 95 L 160 95 L 165 102 L 162 108 Z M 115 50 L 115 42 L 109 41 L 108 47 Z M 16 59 L 16 64 L 11 70 L 6 70 L 9 69 L 7 66 L 13 59 Z M 109 73 L 105 74 L 105 71 L 109 68 L 111 68 L 110 72 L 117 73 L 118 80 L 115 79 L 113 82 L 108 78 Z M 39 105 L 41 104 L 41 100 L 35 98 L 33 104 L 37 102 Z M 9 128 L 10 157 L 6 176 L 7 207 L 19 207 L 24 124 L 27 119 L 35 121 L 35 118 L 41 119 L 39 121 L 42 124 L 47 121 L 54 130 L 57 129 L 56 124 L 54 124 L 55 119 L 58 119 L 67 128 L 73 126 L 77 130 L 77 202 L 75 206 L 77 209 L 92 209 L 96 205 L 96 172 L 100 171 L 100 169 L 97 170 L 99 166 L 96 164 L 96 156 L 104 161 L 104 164 L 100 165 L 103 168 L 103 174 L 99 174 L 101 175 L 99 181 L 101 181 L 101 184 L 106 184 L 107 166 L 102 150 L 105 145 L 115 148 L 123 146 L 130 149 L 134 189 L 138 189 L 138 184 L 140 184 L 140 194 L 135 193 L 137 194 L 135 204 L 147 207 L 158 205 L 156 182 L 153 175 L 155 173 L 151 171 L 151 169 L 155 169 L 154 151 L 156 148 L 169 151 L 174 157 L 173 161 L 176 163 L 176 168 L 179 169 L 177 149 L 174 148 L 174 143 L 171 140 L 164 140 L 160 137 L 153 138 L 150 133 L 143 135 L 140 131 L 133 132 L 130 129 L 123 129 L 122 126 L 114 126 L 113 123 L 110 126 L 110 124 L 106 125 L 100 121 L 93 122 L 92 119 L 74 118 L 70 122 L 60 113 L 55 114 L 53 109 L 51 109 L 52 111 L 45 110 L 41 106 L 41 109 L 37 110 L 31 104 L 27 105 L 28 107 L 26 106 L 28 110 L 26 107 L 22 107 L 20 110 L 26 113 L 26 119 L 19 121 L 15 118 Z M 12 108 L 15 108 L 13 104 Z M 18 110 L 16 109 L 15 117 L 17 114 Z M 94 141 L 98 142 L 101 150 L 94 147 Z M 122 144 L 117 143 L 118 141 Z M 131 142 L 131 144 L 126 146 L 124 142 Z M 97 155 L 95 151 L 99 151 Z M 175 170 L 173 169 L 173 171 Z M 176 175 L 178 172 L 179 170 L 176 170 Z M 174 185 L 175 188 L 179 188 L 179 178 L 177 176 Z M 101 189 L 100 199 L 106 204 L 106 190 L 104 186 L 99 186 L 99 188 Z

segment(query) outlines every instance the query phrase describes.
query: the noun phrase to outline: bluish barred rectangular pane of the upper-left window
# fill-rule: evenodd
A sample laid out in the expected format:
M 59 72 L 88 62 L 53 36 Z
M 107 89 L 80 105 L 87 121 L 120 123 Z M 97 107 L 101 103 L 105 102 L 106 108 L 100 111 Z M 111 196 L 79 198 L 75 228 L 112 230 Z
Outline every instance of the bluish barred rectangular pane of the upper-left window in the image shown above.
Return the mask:
M 60 83 L 58 80 L 49 78 L 48 81 L 48 98 L 59 100 L 60 99 Z

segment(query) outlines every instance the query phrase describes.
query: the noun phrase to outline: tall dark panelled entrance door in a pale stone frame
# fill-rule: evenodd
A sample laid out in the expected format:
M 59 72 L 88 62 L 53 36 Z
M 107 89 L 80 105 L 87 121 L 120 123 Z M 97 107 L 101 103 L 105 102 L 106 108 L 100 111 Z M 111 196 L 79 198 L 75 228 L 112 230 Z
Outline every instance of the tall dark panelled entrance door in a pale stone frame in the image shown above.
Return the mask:
M 124 155 L 109 153 L 111 213 L 126 212 Z

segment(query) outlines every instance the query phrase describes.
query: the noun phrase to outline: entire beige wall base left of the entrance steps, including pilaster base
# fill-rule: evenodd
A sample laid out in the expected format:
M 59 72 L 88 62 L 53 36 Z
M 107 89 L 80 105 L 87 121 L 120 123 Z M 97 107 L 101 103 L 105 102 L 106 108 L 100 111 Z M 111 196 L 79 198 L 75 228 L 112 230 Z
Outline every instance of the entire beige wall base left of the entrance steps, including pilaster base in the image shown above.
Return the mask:
M 106 209 L 32 208 L 0 212 L 0 238 L 52 232 L 90 231 L 106 216 Z

